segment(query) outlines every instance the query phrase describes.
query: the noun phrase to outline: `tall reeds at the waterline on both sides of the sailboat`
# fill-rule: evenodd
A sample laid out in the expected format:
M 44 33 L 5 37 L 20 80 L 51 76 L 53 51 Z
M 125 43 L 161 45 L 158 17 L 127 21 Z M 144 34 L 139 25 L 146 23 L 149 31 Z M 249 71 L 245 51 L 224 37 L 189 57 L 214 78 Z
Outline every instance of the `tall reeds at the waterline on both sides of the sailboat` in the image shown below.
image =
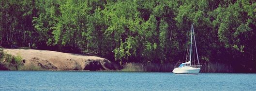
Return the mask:
M 175 63 L 128 63 L 121 71 L 144 71 L 144 72 L 172 72 Z M 235 72 L 231 65 L 221 63 L 202 64 L 200 72 Z

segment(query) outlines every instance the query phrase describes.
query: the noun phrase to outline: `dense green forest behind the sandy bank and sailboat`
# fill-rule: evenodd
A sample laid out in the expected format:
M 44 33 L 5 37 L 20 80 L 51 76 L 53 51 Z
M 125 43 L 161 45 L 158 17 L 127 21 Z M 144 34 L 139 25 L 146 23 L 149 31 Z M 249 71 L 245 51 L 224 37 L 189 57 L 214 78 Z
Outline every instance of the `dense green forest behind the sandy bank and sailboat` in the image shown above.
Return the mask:
M 194 24 L 201 63 L 256 72 L 255 0 L 0 0 L 0 46 L 177 63 Z

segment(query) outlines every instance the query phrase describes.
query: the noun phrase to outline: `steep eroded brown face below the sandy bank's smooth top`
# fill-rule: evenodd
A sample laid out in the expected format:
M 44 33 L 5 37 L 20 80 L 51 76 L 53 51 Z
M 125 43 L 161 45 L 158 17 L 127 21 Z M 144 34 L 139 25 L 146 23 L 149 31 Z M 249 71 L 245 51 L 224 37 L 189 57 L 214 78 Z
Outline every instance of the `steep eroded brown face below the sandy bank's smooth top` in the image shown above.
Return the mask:
M 40 57 L 33 57 L 31 63 L 45 69 L 58 70 L 119 70 L 120 66 L 107 59 L 62 59 L 51 58 L 46 60 Z M 80 61 L 80 62 L 79 62 Z M 25 62 L 24 62 L 25 63 Z

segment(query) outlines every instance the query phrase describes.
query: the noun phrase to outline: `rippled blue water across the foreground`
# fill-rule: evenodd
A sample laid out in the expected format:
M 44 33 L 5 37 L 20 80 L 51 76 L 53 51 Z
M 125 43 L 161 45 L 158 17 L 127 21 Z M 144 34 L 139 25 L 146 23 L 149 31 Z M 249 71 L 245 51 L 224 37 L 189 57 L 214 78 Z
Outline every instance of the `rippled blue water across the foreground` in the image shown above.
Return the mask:
M 0 91 L 256 91 L 256 74 L 0 71 Z

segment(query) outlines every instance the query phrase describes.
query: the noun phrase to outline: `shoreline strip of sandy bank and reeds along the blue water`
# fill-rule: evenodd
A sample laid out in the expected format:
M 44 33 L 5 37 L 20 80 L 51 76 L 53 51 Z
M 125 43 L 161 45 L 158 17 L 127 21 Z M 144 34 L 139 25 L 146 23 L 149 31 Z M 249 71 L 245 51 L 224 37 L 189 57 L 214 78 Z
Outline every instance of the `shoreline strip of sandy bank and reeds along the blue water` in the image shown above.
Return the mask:
M 22 58 L 21 65 L 0 70 L 49 70 L 49 71 L 122 71 L 122 72 L 172 72 L 175 62 L 166 64 L 127 63 L 120 67 L 102 57 L 85 56 L 81 54 L 62 53 L 35 49 L 3 49 L 7 54 Z M 236 70 L 232 65 L 221 63 L 202 63 L 203 73 L 256 73 L 253 71 Z

